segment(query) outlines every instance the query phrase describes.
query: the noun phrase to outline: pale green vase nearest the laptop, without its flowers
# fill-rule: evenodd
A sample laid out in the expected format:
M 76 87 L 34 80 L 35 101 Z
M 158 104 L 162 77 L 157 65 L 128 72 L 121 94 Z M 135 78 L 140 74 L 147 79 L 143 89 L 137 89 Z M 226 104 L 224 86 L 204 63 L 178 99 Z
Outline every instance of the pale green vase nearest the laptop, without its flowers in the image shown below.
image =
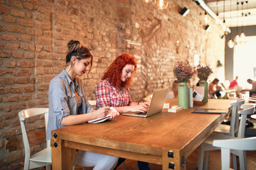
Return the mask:
M 188 84 L 186 82 L 178 84 L 178 107 L 188 108 Z

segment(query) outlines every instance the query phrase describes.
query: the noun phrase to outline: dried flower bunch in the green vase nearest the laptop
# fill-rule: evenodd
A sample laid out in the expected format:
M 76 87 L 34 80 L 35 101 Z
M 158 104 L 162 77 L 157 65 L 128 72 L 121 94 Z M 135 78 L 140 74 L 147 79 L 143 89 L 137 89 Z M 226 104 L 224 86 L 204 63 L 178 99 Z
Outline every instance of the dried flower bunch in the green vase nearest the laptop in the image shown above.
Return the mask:
M 186 82 L 194 74 L 196 74 L 196 69 L 195 67 L 189 65 L 188 62 L 177 61 L 177 63 L 174 65 L 174 74 L 178 81 Z

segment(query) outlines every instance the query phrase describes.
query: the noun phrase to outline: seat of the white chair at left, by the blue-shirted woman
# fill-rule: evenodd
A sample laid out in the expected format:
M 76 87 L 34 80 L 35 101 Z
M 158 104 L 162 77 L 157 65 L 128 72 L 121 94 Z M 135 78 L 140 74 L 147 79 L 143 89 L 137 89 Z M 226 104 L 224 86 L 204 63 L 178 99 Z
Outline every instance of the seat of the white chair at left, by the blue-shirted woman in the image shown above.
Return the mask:
M 33 154 L 30 160 L 33 162 L 45 162 L 51 164 L 51 147 L 47 147 L 46 149 L 43 149 L 36 154 Z

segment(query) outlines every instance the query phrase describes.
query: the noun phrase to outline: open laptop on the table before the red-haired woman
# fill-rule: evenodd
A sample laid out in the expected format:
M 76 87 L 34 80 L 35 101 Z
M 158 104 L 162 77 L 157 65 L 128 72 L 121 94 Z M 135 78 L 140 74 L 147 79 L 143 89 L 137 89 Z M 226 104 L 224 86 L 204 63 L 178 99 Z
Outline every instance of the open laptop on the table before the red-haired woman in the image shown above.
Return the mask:
M 151 102 L 149 104 L 149 109 L 147 112 L 145 112 L 145 113 L 122 113 L 122 115 L 130 115 L 130 116 L 147 118 L 151 115 L 155 115 L 156 113 L 161 113 L 168 91 L 169 91 L 168 89 L 154 90 Z

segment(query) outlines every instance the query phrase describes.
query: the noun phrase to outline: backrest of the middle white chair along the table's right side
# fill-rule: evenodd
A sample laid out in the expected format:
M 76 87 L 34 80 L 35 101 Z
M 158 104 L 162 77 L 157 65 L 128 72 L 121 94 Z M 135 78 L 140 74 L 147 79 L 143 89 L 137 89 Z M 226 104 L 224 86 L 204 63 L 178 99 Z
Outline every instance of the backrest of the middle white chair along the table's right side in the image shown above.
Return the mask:
M 245 137 L 245 125 L 246 125 L 246 118 L 247 115 L 251 115 L 255 111 L 255 106 L 251 104 L 243 104 L 242 105 L 243 110 L 238 111 L 238 114 L 240 114 L 240 125 L 238 129 L 238 138 L 244 138 Z

